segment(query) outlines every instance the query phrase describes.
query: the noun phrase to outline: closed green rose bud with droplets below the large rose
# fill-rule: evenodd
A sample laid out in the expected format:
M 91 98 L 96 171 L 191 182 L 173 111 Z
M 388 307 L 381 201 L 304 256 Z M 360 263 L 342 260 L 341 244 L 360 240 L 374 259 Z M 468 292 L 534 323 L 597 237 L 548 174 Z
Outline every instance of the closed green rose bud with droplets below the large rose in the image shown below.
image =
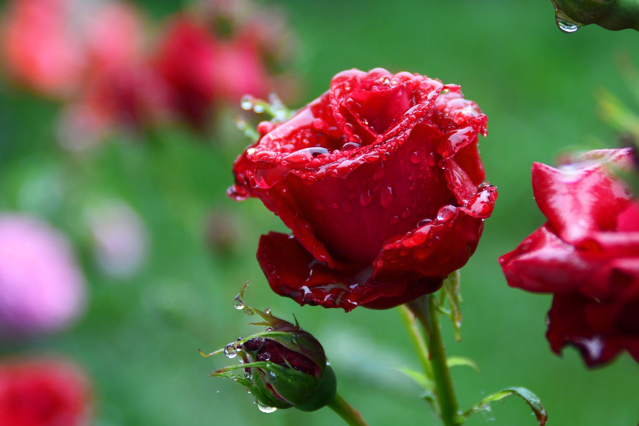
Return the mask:
M 240 308 L 261 316 L 264 322 L 258 325 L 266 326 L 266 331 L 209 354 L 224 352 L 228 358 L 242 359 L 242 364 L 222 368 L 212 376 L 229 377 L 245 386 L 266 413 L 290 407 L 315 411 L 332 402 L 337 381 L 318 340 L 297 324 L 273 317 L 268 311 L 243 304 Z M 232 373 L 239 369 L 244 375 Z

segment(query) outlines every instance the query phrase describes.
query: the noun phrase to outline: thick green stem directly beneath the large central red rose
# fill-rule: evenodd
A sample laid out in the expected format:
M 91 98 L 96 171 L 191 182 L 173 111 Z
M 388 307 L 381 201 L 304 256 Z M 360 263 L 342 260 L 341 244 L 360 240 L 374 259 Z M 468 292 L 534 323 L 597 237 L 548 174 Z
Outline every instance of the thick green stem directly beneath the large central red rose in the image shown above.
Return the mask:
M 463 420 L 459 416 L 457 397 L 452 386 L 452 379 L 450 379 L 436 297 L 432 294 L 426 294 L 410 302 L 408 308 L 422 323 L 424 333 L 426 333 L 430 364 L 433 368 L 433 381 L 435 381 L 436 387 L 435 395 L 442 422 L 445 426 L 459 426 Z

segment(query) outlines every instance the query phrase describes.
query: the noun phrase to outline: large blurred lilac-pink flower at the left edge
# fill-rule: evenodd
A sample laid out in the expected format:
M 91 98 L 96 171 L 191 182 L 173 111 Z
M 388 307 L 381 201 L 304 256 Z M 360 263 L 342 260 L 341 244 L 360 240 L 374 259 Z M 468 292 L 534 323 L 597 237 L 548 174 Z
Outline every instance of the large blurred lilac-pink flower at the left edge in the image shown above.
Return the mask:
M 85 296 L 62 233 L 32 217 L 0 214 L 0 335 L 57 331 L 84 310 Z

